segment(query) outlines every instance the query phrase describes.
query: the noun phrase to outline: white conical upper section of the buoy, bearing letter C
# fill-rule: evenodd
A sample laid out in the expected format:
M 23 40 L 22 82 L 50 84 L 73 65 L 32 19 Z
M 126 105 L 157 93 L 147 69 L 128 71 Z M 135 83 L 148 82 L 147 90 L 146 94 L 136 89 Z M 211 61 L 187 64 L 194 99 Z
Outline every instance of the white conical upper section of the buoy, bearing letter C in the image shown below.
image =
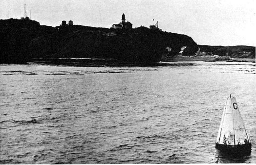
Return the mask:
M 226 100 L 216 143 L 225 145 L 250 143 L 234 96 L 230 95 Z

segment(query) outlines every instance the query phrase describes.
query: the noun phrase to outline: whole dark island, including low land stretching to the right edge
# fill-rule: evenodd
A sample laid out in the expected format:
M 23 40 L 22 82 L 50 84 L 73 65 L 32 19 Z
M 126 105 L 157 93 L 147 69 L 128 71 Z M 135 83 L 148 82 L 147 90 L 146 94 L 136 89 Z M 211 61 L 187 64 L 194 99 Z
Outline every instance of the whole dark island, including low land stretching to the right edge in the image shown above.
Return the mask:
M 197 58 L 196 61 L 203 56 L 225 57 L 228 49 L 198 45 L 187 35 L 162 31 L 156 26 L 132 28 L 132 24 L 125 21 L 102 28 L 75 25 L 72 21 L 51 27 L 29 19 L 0 20 L 0 36 L 0 63 L 72 65 L 74 59 L 80 59 L 85 66 L 94 62 L 152 65 L 185 56 Z M 229 46 L 228 57 L 255 59 L 255 47 Z

